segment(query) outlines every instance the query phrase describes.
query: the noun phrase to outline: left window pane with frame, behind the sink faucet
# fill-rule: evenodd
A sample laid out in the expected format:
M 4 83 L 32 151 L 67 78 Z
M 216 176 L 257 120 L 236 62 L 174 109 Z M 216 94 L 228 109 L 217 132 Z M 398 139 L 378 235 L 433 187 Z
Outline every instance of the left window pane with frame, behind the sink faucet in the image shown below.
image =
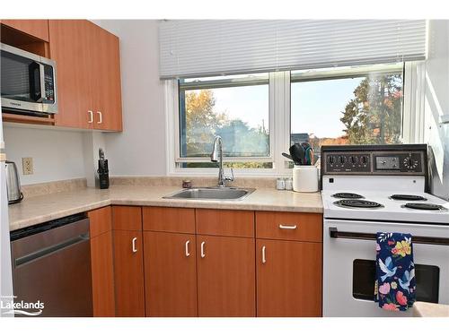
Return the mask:
M 233 161 L 225 166 L 272 167 L 268 73 L 181 79 L 178 87 L 180 167 L 216 167 L 209 159 L 216 135 Z

